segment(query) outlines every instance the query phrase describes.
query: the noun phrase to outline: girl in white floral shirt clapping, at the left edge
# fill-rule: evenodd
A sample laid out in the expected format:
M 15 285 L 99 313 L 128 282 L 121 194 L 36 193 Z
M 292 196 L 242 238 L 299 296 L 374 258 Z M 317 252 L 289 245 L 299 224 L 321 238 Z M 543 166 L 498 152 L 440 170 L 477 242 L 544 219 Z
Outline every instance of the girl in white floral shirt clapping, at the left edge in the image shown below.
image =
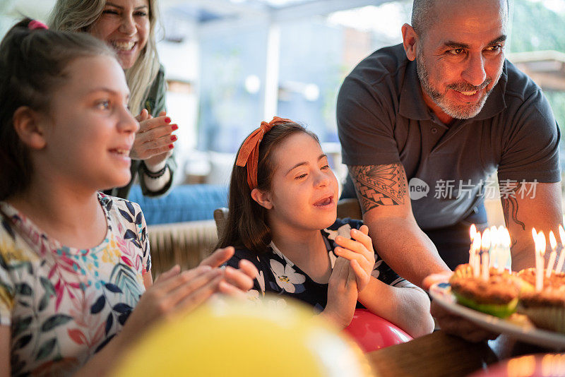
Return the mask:
M 28 19 L 0 44 L 0 376 L 105 375 L 158 319 L 253 285 L 216 268 L 233 249 L 153 285 L 139 206 L 98 192 L 130 179 L 128 95 L 94 37 Z

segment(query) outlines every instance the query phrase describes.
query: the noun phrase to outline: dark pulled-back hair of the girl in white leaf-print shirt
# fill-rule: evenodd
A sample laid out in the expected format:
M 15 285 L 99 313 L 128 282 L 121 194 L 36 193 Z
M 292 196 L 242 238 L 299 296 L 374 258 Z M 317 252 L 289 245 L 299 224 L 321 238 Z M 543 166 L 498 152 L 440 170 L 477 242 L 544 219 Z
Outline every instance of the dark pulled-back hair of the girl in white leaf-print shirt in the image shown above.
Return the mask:
M 0 201 L 28 188 L 32 164 L 28 148 L 13 128 L 19 107 L 49 112 L 49 100 L 68 78 L 66 66 L 83 56 L 115 56 L 85 33 L 30 30 L 30 18 L 13 26 L 0 42 Z

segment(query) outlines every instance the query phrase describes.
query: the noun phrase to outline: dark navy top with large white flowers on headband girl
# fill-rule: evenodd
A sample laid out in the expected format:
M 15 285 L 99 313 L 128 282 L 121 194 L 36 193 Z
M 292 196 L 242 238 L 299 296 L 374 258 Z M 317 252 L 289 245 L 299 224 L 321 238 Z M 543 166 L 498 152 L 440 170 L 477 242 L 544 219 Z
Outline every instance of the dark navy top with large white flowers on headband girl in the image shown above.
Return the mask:
M 335 237 L 339 235 L 350 239 L 350 230 L 359 229 L 361 225 L 363 225 L 363 222 L 359 220 L 338 219 L 331 227 L 321 230 L 332 268 L 335 259 L 337 259 L 333 253 L 335 246 L 338 246 L 334 242 Z M 314 282 L 297 265 L 285 257 L 273 242 L 270 243 L 269 251 L 261 256 L 257 256 L 246 249 L 236 249 L 234 256 L 230 261 L 227 261 L 227 265 L 237 268 L 237 264 L 242 259 L 253 262 L 258 270 L 258 275 L 254 280 L 254 289 L 249 292 L 251 299 L 262 298 L 266 292 L 270 292 L 304 301 L 314 306 L 316 312 L 323 311 L 326 307 L 328 284 Z M 375 264 L 371 275 L 388 285 L 420 289 L 398 276 L 377 253 L 375 253 Z M 363 306 L 358 302 L 357 307 L 362 308 Z

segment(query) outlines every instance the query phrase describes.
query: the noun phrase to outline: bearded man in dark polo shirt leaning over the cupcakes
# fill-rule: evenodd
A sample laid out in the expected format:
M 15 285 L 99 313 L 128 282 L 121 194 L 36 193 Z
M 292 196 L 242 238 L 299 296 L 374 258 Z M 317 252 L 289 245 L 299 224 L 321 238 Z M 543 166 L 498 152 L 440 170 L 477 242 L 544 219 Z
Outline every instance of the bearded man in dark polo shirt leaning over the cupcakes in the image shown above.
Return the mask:
M 468 261 L 494 172 L 513 270 L 534 265 L 533 227 L 558 234 L 559 128 L 542 90 L 504 58 L 508 15 L 506 0 L 415 0 L 403 43 L 361 61 L 340 89 L 363 220 L 383 260 L 420 287 Z

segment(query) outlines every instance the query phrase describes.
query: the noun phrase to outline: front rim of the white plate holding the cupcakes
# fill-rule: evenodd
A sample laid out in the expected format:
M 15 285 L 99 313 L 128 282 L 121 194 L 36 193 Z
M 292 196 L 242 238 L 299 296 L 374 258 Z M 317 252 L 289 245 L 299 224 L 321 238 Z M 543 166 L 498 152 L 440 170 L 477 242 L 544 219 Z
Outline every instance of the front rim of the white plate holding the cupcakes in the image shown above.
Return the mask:
M 449 283 L 440 282 L 432 285 L 429 289 L 429 295 L 448 311 L 456 313 L 463 318 L 467 318 L 469 321 L 477 323 L 477 325 L 491 330 L 494 333 L 504 333 L 523 342 L 533 343 L 543 347 L 565 349 L 564 334 L 541 330 L 528 323 L 513 323 L 511 319 L 501 319 L 457 304 L 455 297 L 451 294 L 451 286 Z

